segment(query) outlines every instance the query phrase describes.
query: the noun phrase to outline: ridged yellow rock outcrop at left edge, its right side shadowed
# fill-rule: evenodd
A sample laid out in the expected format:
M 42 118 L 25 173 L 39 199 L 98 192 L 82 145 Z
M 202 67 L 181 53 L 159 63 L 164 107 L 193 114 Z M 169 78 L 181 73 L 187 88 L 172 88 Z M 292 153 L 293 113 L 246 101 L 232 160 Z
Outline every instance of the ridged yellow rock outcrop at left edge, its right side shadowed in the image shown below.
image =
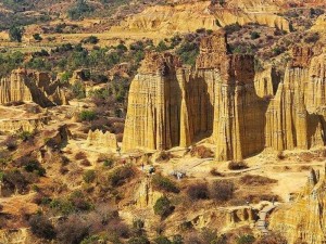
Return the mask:
M 67 104 L 59 82 L 49 74 L 15 69 L 0 80 L 0 104 L 35 102 L 42 107 Z

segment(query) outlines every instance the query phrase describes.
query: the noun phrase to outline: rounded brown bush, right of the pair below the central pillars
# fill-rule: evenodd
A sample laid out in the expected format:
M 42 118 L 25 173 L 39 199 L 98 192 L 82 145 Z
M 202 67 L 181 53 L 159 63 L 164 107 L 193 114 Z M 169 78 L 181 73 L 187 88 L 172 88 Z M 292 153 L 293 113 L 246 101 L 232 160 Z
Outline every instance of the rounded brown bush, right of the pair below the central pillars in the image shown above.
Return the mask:
M 227 180 L 214 181 L 210 189 L 211 197 L 225 202 L 233 197 L 235 191 L 235 185 L 233 182 Z

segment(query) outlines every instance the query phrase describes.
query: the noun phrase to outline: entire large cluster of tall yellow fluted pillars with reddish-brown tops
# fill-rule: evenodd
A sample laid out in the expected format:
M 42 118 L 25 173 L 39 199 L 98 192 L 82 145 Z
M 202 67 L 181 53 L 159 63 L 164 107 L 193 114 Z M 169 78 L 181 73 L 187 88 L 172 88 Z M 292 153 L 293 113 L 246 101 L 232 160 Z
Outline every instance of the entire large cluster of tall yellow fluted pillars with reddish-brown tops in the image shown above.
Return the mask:
M 220 160 L 325 143 L 325 49 L 296 47 L 284 80 L 231 54 L 223 31 L 203 38 L 196 68 L 147 53 L 131 82 L 123 150 L 168 150 L 211 137 Z

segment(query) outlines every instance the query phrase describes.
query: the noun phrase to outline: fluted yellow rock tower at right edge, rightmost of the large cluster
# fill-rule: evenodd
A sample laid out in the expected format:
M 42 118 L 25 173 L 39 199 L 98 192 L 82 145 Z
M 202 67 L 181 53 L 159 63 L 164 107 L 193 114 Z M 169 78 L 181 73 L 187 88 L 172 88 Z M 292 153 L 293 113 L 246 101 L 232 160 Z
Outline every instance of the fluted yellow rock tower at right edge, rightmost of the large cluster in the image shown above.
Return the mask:
M 296 47 L 284 81 L 266 113 L 266 147 L 308 150 L 325 143 L 325 63 L 313 50 Z

